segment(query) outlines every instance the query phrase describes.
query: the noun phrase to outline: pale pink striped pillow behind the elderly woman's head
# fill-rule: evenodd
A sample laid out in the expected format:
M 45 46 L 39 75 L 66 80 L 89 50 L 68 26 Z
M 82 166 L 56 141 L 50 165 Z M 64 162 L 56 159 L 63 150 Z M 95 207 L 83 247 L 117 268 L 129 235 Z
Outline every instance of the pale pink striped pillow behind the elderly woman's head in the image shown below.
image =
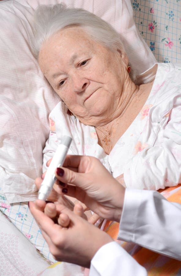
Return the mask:
M 34 9 L 59 0 L 0 2 L 0 188 L 9 203 L 35 200 L 42 173 L 42 149 L 49 134 L 48 115 L 60 98 L 31 52 Z M 130 1 L 66 0 L 108 21 L 120 33 L 133 67 L 142 73 L 155 63 L 133 21 Z M 135 44 L 132 44 L 134 38 Z

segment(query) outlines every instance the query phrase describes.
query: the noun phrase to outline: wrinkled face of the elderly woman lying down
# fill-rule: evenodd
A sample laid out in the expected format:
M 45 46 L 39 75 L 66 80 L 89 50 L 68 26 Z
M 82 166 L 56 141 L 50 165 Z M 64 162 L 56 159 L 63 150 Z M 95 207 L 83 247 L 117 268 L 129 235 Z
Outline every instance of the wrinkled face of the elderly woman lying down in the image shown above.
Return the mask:
M 68 109 L 84 124 L 109 120 L 119 106 L 127 57 L 93 41 L 80 27 L 44 42 L 39 66 Z

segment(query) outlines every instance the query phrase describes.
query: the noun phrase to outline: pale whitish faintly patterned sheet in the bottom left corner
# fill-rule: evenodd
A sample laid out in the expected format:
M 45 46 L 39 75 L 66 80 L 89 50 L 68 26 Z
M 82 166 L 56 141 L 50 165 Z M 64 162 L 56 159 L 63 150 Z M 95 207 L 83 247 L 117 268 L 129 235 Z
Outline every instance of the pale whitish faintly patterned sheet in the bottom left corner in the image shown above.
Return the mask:
M 0 275 L 35 276 L 50 266 L 0 211 Z

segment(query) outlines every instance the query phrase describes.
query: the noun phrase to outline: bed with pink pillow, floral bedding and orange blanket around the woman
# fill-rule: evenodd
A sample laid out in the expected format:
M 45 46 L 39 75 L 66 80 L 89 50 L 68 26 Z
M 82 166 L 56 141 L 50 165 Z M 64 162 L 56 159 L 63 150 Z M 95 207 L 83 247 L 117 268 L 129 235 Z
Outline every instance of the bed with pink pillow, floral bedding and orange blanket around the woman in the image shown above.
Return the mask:
M 49 134 L 48 115 L 60 99 L 42 75 L 31 51 L 32 21 L 39 4 L 59 0 L 0 1 L 0 209 L 9 214 L 9 205 L 18 198 L 35 200 L 36 177 L 42 173 L 42 149 Z M 139 74 L 158 62 L 181 62 L 181 1 L 179 0 L 65 0 L 108 21 L 120 33 L 132 67 Z M 142 74 L 140 81 L 149 77 Z M 3 193 L 1 194 L 1 192 Z M 180 185 L 160 192 L 181 203 Z M 27 211 L 27 205 L 23 207 Z M 0 213 L 0 264 L 2 275 L 88 275 L 88 270 L 66 263 L 51 265 L 36 250 L 29 232 Z M 26 212 L 17 220 L 26 224 Z M 27 215 L 28 216 L 28 215 Z M 107 222 L 104 230 L 116 238 L 117 224 Z M 41 236 L 41 233 L 39 233 Z M 131 243 L 121 243 L 146 267 L 149 275 L 181 275 L 181 263 Z M 51 265 L 51 266 L 50 266 Z

